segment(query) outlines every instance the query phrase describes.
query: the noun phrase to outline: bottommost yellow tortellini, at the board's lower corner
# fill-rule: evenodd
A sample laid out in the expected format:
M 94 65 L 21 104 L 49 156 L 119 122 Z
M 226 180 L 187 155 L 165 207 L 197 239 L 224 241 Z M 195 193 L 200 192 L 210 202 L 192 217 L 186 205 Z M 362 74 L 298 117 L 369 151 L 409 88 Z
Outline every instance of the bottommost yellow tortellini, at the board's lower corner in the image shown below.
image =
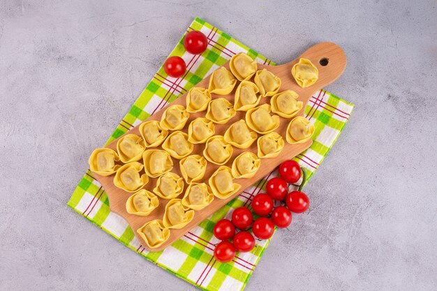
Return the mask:
M 170 237 L 170 230 L 165 227 L 161 219 L 155 219 L 142 225 L 137 230 L 149 248 L 158 248 Z

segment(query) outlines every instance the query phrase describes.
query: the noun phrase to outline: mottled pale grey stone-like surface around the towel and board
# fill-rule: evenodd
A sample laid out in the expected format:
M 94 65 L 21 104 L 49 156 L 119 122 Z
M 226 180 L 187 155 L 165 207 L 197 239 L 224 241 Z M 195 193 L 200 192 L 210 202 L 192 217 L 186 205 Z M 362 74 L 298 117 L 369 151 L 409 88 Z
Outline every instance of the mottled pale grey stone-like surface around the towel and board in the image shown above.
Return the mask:
M 348 56 L 352 118 L 247 290 L 436 290 L 431 0 L 0 0 L 0 290 L 195 290 L 66 206 L 195 16 L 279 64 Z

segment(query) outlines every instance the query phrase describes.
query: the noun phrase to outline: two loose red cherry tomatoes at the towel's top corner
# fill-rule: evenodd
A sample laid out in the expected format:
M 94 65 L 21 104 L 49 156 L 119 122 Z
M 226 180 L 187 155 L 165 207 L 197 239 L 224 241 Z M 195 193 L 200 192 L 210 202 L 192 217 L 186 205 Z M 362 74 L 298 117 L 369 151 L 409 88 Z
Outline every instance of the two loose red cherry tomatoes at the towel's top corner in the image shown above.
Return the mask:
M 193 30 L 186 33 L 184 38 L 185 50 L 191 54 L 202 54 L 208 46 L 208 39 L 200 31 Z M 169 57 L 164 63 L 164 70 L 170 77 L 181 77 L 186 71 L 186 64 L 182 57 Z

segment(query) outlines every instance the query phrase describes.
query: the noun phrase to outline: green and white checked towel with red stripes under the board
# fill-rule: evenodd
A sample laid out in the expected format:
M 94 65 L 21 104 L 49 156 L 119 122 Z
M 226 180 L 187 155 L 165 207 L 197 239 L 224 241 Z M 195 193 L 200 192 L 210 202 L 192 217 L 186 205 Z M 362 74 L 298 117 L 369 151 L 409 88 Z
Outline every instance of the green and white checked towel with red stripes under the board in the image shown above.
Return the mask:
M 114 130 L 108 143 L 184 94 L 238 52 L 246 52 L 260 64 L 274 65 L 269 59 L 199 18 L 195 18 L 190 24 L 187 31 L 191 30 L 200 30 L 205 33 L 209 40 L 207 50 L 202 55 L 188 54 L 184 50 L 182 37 L 171 55 L 180 56 L 186 61 L 186 74 L 181 78 L 168 77 L 161 67 Z M 316 92 L 309 100 L 305 108 L 305 116 L 316 126 L 316 132 L 313 135 L 312 146 L 295 157 L 295 160 L 306 168 L 309 177 L 339 137 L 352 110 L 353 104 L 323 90 Z M 221 263 L 214 259 L 214 246 L 219 241 L 214 238 L 212 230 L 216 221 L 221 218 L 230 218 L 232 209 L 249 205 L 253 196 L 260 193 L 267 180 L 275 175 L 276 172 L 272 172 L 265 179 L 247 188 L 235 200 L 161 252 L 148 252 L 140 245 L 126 221 L 110 211 L 104 189 L 89 171 L 84 174 L 68 201 L 68 206 L 128 248 L 193 285 L 204 290 L 243 290 L 262 253 L 267 248 L 269 240 L 256 241 L 255 248 L 250 253 L 237 253 L 232 262 Z

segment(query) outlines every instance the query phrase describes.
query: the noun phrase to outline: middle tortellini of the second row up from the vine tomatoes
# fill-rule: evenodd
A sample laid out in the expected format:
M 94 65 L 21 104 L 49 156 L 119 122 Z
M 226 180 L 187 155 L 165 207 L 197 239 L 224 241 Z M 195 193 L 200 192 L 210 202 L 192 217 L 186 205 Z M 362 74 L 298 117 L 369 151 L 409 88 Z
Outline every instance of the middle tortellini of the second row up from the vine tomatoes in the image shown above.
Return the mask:
M 216 165 L 224 165 L 232 156 L 232 146 L 225 142 L 225 139 L 221 135 L 214 135 L 210 137 L 205 144 L 203 150 L 203 156 Z

